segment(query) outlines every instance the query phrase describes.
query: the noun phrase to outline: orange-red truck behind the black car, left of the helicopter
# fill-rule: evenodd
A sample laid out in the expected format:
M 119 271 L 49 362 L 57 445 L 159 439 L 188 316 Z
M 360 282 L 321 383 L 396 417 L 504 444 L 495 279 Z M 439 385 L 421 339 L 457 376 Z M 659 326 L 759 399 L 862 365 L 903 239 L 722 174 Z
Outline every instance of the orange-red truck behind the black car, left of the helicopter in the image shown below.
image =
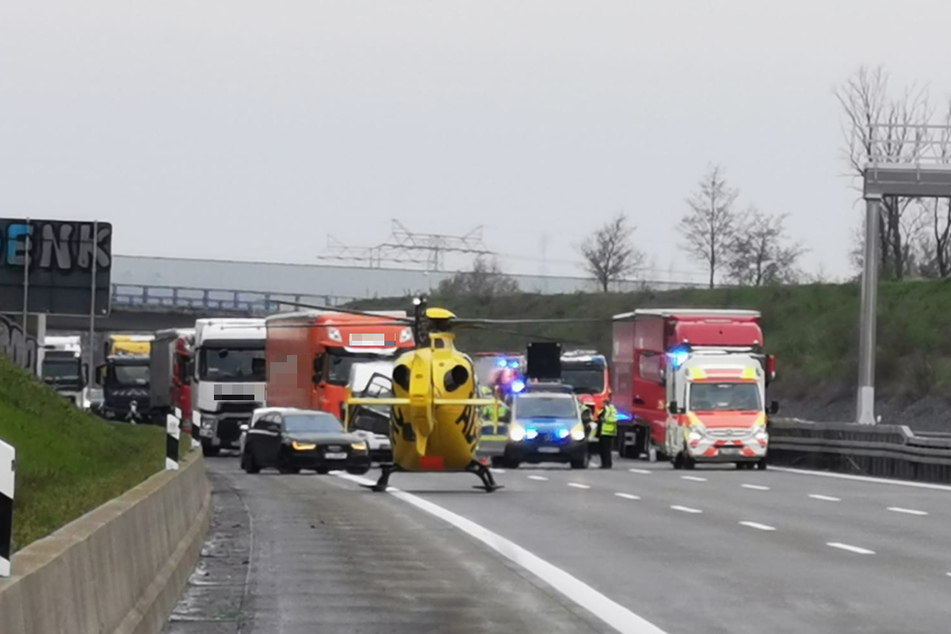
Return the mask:
M 397 317 L 406 313 L 306 311 L 268 317 L 267 406 L 316 409 L 343 420 L 353 365 L 392 361 L 415 346 L 412 328 Z

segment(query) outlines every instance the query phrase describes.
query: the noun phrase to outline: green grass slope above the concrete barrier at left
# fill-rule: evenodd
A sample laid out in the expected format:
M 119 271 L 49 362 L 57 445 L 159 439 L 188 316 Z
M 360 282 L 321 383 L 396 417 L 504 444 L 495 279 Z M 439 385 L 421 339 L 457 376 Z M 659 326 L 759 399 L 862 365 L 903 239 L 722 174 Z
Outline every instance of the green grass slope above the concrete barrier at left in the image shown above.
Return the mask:
M 2 354 L 0 438 L 17 451 L 14 550 L 165 466 L 162 427 L 108 423 L 85 414 Z

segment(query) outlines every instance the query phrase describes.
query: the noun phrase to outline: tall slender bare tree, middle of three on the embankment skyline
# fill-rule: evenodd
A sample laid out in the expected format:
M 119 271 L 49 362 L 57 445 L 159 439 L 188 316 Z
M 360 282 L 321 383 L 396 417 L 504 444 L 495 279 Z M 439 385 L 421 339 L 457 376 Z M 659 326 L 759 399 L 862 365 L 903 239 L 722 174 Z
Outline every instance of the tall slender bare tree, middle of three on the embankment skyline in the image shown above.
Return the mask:
M 698 190 L 687 200 L 690 210 L 677 227 L 687 241 L 680 248 L 706 263 L 710 288 L 717 271 L 727 265 L 730 245 L 736 237 L 733 203 L 738 195 L 738 190 L 727 186 L 723 168 L 709 167 Z

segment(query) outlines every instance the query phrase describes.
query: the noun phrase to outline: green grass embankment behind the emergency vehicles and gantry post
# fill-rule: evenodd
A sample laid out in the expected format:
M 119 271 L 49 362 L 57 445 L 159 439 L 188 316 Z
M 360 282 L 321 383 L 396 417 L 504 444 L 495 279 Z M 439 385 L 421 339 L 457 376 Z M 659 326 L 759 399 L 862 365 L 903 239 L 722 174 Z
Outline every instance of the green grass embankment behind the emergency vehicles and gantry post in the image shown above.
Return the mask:
M 812 284 L 615 294 L 524 294 L 490 301 L 432 297 L 430 305 L 445 305 L 460 317 L 522 319 L 610 319 L 614 314 L 650 307 L 755 309 L 763 314 L 766 347 L 777 356 L 779 378 L 774 394 L 781 400 L 803 405 L 839 401 L 851 406 L 858 373 L 859 299 L 857 284 Z M 355 306 L 412 308 L 406 298 L 367 300 Z M 879 290 L 878 308 L 879 399 L 890 401 L 891 405 L 902 404 L 896 411 L 905 411 L 905 405 L 920 399 L 945 399 L 951 391 L 951 281 L 884 282 Z M 509 328 L 596 348 L 610 357 L 611 326 L 607 322 Z M 528 339 L 499 332 L 462 331 L 458 343 L 464 350 L 517 350 L 524 349 Z M 789 413 L 788 408 L 784 411 Z M 837 412 L 836 416 L 844 420 L 845 414 Z

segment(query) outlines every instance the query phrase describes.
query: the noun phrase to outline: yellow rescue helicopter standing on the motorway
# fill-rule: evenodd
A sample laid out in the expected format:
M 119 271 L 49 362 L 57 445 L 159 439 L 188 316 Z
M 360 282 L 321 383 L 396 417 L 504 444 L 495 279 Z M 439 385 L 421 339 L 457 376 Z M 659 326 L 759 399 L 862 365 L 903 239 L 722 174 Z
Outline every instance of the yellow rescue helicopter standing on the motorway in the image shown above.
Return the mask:
M 323 308 L 295 304 L 302 308 Z M 597 319 L 460 319 L 445 308 L 427 307 L 425 298 L 413 299 L 414 316 L 391 317 L 413 326 L 416 347 L 398 356 L 392 374 L 392 397 L 354 397 L 348 395 L 344 424 L 361 407 L 389 407 L 389 435 L 393 463 L 381 465 L 374 491 L 385 491 L 390 476 L 403 472 L 468 472 L 482 480 L 492 492 L 502 488 L 492 477 L 488 465 L 476 459 L 482 436 L 478 412 L 496 405 L 495 398 L 476 396 L 474 364 L 455 347 L 454 326 L 494 327 L 502 324 L 571 323 L 603 321 Z M 373 313 L 347 308 L 327 308 L 357 315 L 379 317 Z M 367 325 L 367 324 L 364 324 Z M 515 334 L 515 333 L 513 333 Z M 518 333 L 524 335 L 525 333 Z M 545 339 L 548 339 L 545 337 Z M 497 419 L 497 408 L 492 408 Z M 498 421 L 494 421 L 496 426 Z

